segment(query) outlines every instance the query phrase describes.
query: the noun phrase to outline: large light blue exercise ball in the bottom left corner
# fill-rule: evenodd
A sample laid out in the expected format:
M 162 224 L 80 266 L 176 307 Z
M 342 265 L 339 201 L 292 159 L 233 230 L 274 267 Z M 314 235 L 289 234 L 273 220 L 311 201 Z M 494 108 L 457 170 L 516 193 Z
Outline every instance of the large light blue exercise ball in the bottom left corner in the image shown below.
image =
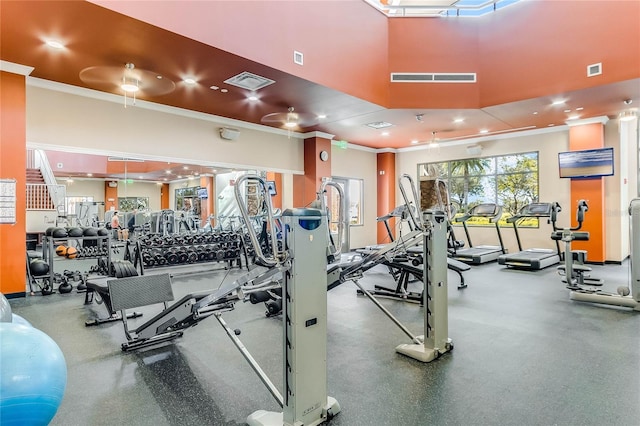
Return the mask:
M 0 425 L 47 425 L 67 386 L 67 365 L 37 328 L 0 323 Z

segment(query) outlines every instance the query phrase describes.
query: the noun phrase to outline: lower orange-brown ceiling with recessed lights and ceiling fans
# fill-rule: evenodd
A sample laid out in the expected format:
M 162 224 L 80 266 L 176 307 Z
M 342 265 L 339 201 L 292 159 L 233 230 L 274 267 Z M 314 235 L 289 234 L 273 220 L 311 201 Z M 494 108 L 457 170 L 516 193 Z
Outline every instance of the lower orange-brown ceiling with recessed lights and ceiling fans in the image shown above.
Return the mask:
M 117 9 L 136 2 L 94 3 L 106 3 L 108 7 Z M 150 82 L 149 79 L 138 80 L 136 84 L 140 86 L 140 90 L 136 96 L 139 99 L 283 129 L 284 121 L 265 121 L 263 117 L 278 113 L 276 118 L 286 120 L 287 109 L 293 106 L 295 112 L 300 114 L 298 118 L 302 120 L 292 130 L 303 133 L 321 131 L 335 135 L 336 140 L 346 140 L 351 144 L 376 149 L 410 147 L 412 141 L 413 144 L 415 141 L 428 143 L 433 138 L 443 142 L 459 140 L 478 136 L 481 130 L 493 134 L 546 128 L 564 124 L 571 114 L 578 114 L 580 118 L 602 115 L 615 118 L 629 108 L 624 100 L 631 101 L 633 107 L 640 104 L 640 71 L 632 70 L 628 73 L 632 78 L 584 87 L 576 87 L 571 81 L 558 78 L 553 86 L 536 87 L 532 90 L 531 93 L 537 94 L 536 96 L 521 97 L 506 103 L 468 108 L 461 102 L 461 107 L 457 108 L 452 107 L 455 102 L 443 102 L 442 107 L 438 108 L 437 105 L 434 107 L 433 99 L 425 99 L 423 107 L 418 99 L 407 102 L 411 108 L 391 108 L 380 102 L 373 102 L 373 98 L 364 99 L 354 95 L 359 93 L 356 88 L 347 93 L 345 90 L 328 87 L 294 75 L 288 70 L 261 64 L 94 3 L 1 1 L 2 61 L 33 67 L 31 77 L 120 95 L 123 94 L 119 87 L 121 76 L 128 76 L 125 74 L 125 64 L 131 63 L 135 65 L 136 71 L 151 71 L 153 74 L 150 75 L 162 76 L 163 79 L 156 82 Z M 167 3 L 172 2 L 138 2 L 138 6 L 149 5 L 148 9 L 157 6 L 157 14 L 160 15 L 160 5 L 167 6 Z M 185 3 L 185 14 L 189 13 L 188 10 L 194 13 L 192 9 L 196 7 L 209 7 L 212 10 L 215 7 L 235 7 L 232 5 L 234 2 Z M 246 5 L 259 2 L 236 2 L 238 7 L 239 3 Z M 353 5 L 353 2 L 344 3 Z M 364 1 L 362 3 L 365 4 Z M 520 3 L 507 10 L 517 13 L 518 7 Z M 371 9 L 374 10 L 372 7 Z M 151 10 L 149 13 L 153 12 Z M 47 46 L 45 41 L 50 39 L 59 40 L 64 47 L 55 49 Z M 629 43 L 629 55 L 633 58 L 631 63 L 638 63 L 640 48 L 637 45 L 640 42 L 636 40 Z M 577 62 L 592 60 L 582 58 L 584 48 L 585 46 L 570 52 Z M 540 64 L 532 64 L 533 66 L 538 67 Z M 92 70 L 84 71 L 81 77 L 83 70 L 91 67 L 97 67 L 97 71 L 94 70 L 93 74 Z M 189 70 L 191 74 L 188 74 Z M 252 90 L 225 83 L 243 72 L 275 83 L 255 91 L 259 100 L 251 101 L 248 98 L 253 94 Z M 340 70 L 336 70 L 336 73 L 339 77 Z M 560 74 L 558 73 L 559 76 Z M 195 84 L 184 81 L 190 75 L 197 75 Z M 146 74 L 142 76 L 147 77 Z M 386 79 L 385 84 L 394 84 L 388 83 L 388 74 L 382 78 Z M 175 88 L 162 93 L 162 90 L 156 90 L 160 87 L 160 81 L 173 82 Z M 253 79 L 248 81 L 256 83 Z M 507 98 L 508 96 L 505 97 Z M 558 98 L 564 99 L 566 103 L 551 106 L 551 102 Z M 389 102 L 395 103 L 394 99 Z M 326 114 L 326 118 L 322 118 L 321 114 Z M 464 121 L 456 123 L 455 119 Z M 392 126 L 380 130 L 366 126 L 368 123 L 381 122 Z M 387 130 L 389 134 L 383 135 L 383 130 Z

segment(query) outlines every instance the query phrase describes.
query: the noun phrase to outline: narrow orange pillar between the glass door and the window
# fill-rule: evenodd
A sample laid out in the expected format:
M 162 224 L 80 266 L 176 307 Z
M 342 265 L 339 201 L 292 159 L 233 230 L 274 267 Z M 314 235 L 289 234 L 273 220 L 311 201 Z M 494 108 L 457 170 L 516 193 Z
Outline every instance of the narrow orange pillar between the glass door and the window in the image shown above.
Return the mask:
M 395 208 L 396 203 L 396 154 L 393 152 L 381 152 L 377 154 L 378 169 L 378 206 L 377 216 L 384 216 Z M 389 227 L 395 238 L 396 220 L 389 221 Z M 388 243 L 389 235 L 384 223 L 378 222 L 378 244 Z

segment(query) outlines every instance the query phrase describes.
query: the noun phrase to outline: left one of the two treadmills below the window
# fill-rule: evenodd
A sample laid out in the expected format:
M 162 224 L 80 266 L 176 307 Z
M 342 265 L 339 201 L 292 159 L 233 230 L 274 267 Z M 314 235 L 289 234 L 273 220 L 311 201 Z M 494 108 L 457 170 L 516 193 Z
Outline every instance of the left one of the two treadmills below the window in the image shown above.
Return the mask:
M 502 242 L 502 234 L 500 234 L 500 227 L 498 226 L 498 221 L 501 216 L 501 206 L 493 203 L 483 203 L 473 207 L 469 213 L 464 216 L 457 218 L 455 220 L 456 222 L 462 222 L 462 227 L 464 228 L 464 233 L 467 236 L 469 247 L 466 249 L 455 250 L 452 257 L 464 263 L 480 265 L 482 263 L 493 262 L 498 259 L 500 255 L 506 254 L 506 250 Z M 473 218 L 489 219 L 489 223 L 493 223 L 495 225 L 496 232 L 498 233 L 498 240 L 500 242 L 499 246 L 484 245 L 474 247 L 472 245 L 467 222 Z

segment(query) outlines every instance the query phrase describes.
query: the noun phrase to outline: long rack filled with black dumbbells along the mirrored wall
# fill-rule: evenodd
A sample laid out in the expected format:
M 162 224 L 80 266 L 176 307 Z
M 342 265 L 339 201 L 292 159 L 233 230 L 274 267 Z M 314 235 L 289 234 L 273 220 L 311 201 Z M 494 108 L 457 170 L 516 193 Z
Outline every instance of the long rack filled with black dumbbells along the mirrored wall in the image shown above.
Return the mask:
M 125 258 L 130 254 L 134 266 L 144 274 L 148 268 L 225 262 L 242 268 L 242 256 L 248 264 L 243 237 L 238 232 L 148 234 L 127 242 Z

